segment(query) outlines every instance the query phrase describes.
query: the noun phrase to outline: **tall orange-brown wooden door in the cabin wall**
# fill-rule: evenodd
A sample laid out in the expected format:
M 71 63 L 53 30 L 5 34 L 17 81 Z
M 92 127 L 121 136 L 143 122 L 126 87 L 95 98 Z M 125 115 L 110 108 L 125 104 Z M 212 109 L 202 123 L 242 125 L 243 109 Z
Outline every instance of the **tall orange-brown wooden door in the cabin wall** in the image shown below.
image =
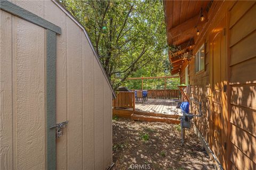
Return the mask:
M 225 165 L 227 129 L 226 107 L 226 36 L 225 19 L 222 19 L 210 36 L 211 55 L 211 120 L 212 150 Z

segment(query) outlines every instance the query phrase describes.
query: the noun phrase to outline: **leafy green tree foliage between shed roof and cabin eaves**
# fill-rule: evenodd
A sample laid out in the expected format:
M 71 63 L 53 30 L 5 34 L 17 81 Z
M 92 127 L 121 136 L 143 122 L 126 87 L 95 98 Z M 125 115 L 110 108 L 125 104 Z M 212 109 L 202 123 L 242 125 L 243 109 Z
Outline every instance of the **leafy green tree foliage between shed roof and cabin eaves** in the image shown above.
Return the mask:
M 128 77 L 170 73 L 162 1 L 59 1 L 83 24 L 115 89 Z

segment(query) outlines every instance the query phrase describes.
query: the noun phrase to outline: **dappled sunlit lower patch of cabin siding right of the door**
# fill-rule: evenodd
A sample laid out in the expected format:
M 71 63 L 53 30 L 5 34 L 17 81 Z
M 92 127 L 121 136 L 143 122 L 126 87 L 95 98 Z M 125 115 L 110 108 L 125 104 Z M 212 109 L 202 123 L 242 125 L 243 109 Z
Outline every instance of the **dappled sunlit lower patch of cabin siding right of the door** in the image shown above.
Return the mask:
M 256 87 L 255 84 L 231 85 L 231 162 L 256 168 Z M 251 160 L 250 160 L 251 159 Z M 253 163 L 254 162 L 254 163 Z M 237 165 L 237 164 L 236 164 Z

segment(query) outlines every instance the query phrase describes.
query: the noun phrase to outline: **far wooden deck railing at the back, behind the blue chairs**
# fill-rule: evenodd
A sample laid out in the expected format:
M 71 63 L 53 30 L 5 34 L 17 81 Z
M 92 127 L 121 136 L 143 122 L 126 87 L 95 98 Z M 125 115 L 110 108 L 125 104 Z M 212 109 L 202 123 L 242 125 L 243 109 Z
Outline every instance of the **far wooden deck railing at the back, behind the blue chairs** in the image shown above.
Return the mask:
M 147 90 L 148 98 L 179 98 L 179 90 Z

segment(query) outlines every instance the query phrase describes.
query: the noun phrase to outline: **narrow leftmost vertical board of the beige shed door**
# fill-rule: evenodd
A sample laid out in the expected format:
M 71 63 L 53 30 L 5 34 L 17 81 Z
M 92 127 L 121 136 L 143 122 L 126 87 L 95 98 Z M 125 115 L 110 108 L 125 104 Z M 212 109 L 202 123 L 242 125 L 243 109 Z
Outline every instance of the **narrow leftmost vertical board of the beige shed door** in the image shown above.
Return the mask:
M 12 15 L 1 10 L 0 17 L 0 169 L 12 169 Z

